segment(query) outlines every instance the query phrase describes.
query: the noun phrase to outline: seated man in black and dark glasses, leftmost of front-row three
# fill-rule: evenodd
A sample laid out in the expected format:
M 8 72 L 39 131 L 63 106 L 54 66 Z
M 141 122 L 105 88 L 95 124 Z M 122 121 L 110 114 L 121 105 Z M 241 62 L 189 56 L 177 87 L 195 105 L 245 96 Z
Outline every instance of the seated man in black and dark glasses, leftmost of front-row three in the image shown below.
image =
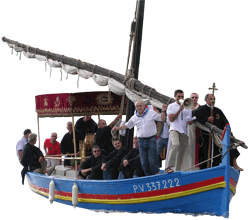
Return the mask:
M 93 145 L 92 156 L 87 160 L 83 161 L 79 167 L 79 178 L 80 179 L 103 179 L 103 171 L 101 169 L 102 160 L 104 158 L 101 155 L 101 149 L 98 145 Z

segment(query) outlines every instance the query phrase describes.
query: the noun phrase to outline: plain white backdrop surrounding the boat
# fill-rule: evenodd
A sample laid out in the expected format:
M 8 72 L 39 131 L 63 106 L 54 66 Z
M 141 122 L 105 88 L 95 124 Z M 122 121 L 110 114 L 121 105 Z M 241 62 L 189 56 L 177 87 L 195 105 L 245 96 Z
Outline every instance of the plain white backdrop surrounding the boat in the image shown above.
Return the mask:
M 0 36 L 42 50 L 81 59 L 124 74 L 135 0 L 4 1 L 0 8 Z M 234 135 L 246 144 L 249 124 L 249 1 L 147 0 L 143 28 L 139 80 L 173 97 L 183 89 L 186 97 L 200 95 L 200 104 L 215 82 L 216 106 L 230 121 Z M 44 62 L 11 55 L 0 43 L 1 62 L 1 216 L 21 219 L 80 218 L 185 218 L 184 215 L 96 213 L 53 204 L 21 185 L 22 167 L 16 158 L 16 142 L 24 129 L 37 133 L 35 95 L 101 91 L 92 79 L 66 74 L 59 69 L 51 78 Z M 111 117 L 104 117 L 111 122 Z M 97 118 L 94 117 L 97 121 Z M 41 142 L 52 131 L 58 141 L 67 132 L 69 118 L 41 119 Z M 75 119 L 76 120 L 76 119 Z M 238 164 L 245 169 L 230 204 L 230 219 L 246 219 L 249 202 L 249 150 L 239 149 Z M 5 217 L 6 218 L 6 217 Z M 199 216 L 199 219 L 215 217 Z M 3 219 L 3 218 L 2 218 Z

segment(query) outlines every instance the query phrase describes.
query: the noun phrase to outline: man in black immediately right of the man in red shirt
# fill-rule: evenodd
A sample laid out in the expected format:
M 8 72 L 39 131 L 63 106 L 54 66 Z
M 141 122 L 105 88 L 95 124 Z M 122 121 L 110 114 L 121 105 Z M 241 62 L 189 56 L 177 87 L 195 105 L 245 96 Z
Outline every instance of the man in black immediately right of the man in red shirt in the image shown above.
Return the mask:
M 64 136 L 63 139 L 61 140 L 60 143 L 60 149 L 62 154 L 73 154 L 75 153 L 74 150 L 74 139 L 73 139 L 73 126 L 72 122 L 67 123 L 67 129 L 69 132 L 67 132 Z M 84 140 L 83 135 L 78 132 L 77 130 L 75 131 L 76 135 L 76 153 L 79 153 L 79 141 Z M 64 160 L 64 166 L 71 166 L 70 160 Z

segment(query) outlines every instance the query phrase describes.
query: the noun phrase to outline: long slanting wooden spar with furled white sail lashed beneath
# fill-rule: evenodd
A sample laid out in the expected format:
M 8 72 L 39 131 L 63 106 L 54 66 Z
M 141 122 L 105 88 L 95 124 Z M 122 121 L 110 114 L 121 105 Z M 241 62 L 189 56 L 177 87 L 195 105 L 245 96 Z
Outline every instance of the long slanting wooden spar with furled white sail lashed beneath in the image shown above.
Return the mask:
M 122 83 L 122 84 L 124 83 L 124 81 L 126 79 L 126 77 L 124 75 L 120 74 L 120 73 L 117 73 L 115 71 L 111 71 L 111 70 L 108 70 L 108 69 L 105 69 L 103 67 L 93 65 L 93 64 L 90 64 L 90 63 L 87 63 L 87 62 L 83 62 L 81 60 L 77 60 L 77 59 L 67 57 L 67 56 L 64 56 L 64 55 L 60 55 L 60 54 L 51 53 L 49 51 L 40 50 L 38 48 L 30 47 L 28 45 L 21 44 L 21 43 L 19 43 L 17 41 L 13 41 L 13 40 L 7 39 L 5 37 L 2 37 L 2 41 L 6 42 L 6 43 L 9 43 L 9 44 L 14 44 L 17 47 L 22 48 L 23 51 L 25 51 L 25 52 L 28 51 L 28 52 L 33 53 L 33 54 L 37 54 L 37 55 L 47 57 L 47 59 L 56 60 L 56 61 L 62 62 L 64 64 L 74 66 L 74 67 L 76 67 L 78 69 L 83 69 L 83 70 L 93 72 L 93 73 L 98 74 L 98 75 L 110 77 L 110 78 L 112 78 L 112 79 L 114 79 L 114 80 L 116 80 L 116 81 L 118 81 L 119 83 Z M 130 80 L 128 80 L 128 82 L 129 81 Z M 128 87 L 127 83 L 126 83 L 126 87 Z M 141 83 L 141 82 L 139 82 L 137 80 L 134 82 L 134 88 L 133 89 L 135 91 L 137 91 L 137 92 L 142 92 L 142 89 L 143 89 L 143 94 L 148 95 L 148 96 L 150 96 L 150 97 L 152 97 L 154 99 L 157 99 L 162 103 L 169 104 L 169 103 L 175 102 L 174 98 L 168 97 L 166 95 L 162 95 L 159 92 L 157 92 L 155 89 L 153 89 L 152 87 L 144 85 L 143 83 Z

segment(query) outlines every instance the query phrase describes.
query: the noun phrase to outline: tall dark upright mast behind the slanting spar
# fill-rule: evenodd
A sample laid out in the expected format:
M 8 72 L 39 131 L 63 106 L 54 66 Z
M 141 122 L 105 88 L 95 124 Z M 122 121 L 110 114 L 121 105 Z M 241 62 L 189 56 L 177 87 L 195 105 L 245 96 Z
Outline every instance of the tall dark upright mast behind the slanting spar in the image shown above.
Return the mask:
M 135 79 L 138 79 L 138 75 L 139 75 L 144 6 L 145 6 L 145 0 L 137 0 L 136 26 L 135 26 L 135 36 L 134 36 L 134 44 L 133 44 L 133 50 L 132 50 L 132 60 L 131 60 L 131 68 L 133 70 Z M 134 114 L 134 111 L 135 111 L 134 103 L 128 100 L 127 111 L 126 111 L 127 112 L 126 121 L 128 121 L 132 117 L 132 115 Z M 134 136 L 134 129 L 127 129 L 124 144 L 125 146 L 127 146 L 128 149 L 133 148 L 133 136 Z

